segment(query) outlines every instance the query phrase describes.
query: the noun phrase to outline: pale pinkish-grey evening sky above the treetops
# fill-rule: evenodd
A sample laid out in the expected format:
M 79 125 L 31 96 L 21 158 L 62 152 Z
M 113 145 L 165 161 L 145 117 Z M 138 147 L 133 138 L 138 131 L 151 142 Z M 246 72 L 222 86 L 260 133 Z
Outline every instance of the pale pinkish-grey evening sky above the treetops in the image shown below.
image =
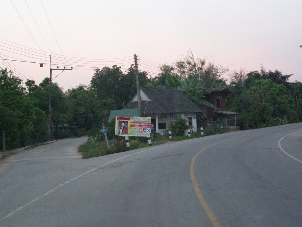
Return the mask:
M 0 58 L 18 61 L 0 60 L 0 67 L 39 84 L 49 77 L 51 54 L 52 68 L 74 68 L 53 81 L 67 90 L 89 85 L 97 66 L 127 69 L 134 54 L 139 69 L 154 77 L 157 66 L 191 49 L 195 58 L 208 57 L 230 72 L 262 64 L 302 81 L 301 12 L 301 0 L 1 0 Z

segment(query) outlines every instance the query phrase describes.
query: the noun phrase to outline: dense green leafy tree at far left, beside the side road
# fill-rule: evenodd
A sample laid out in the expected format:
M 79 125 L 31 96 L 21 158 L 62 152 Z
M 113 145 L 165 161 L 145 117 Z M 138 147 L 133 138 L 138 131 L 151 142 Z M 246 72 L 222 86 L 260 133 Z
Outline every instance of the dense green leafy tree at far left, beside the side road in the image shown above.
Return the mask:
M 25 93 L 21 79 L 0 69 L 0 131 L 5 131 L 8 148 L 44 141 L 45 120 L 45 113 Z

